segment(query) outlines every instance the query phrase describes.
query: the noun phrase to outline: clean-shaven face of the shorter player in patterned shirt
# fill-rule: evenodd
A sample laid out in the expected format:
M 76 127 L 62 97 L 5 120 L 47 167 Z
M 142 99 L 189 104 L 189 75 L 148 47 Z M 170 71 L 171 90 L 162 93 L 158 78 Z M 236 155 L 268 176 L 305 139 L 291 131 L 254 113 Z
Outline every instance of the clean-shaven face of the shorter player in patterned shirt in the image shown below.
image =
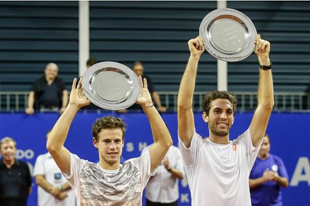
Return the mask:
M 101 130 L 98 141 L 93 139 L 93 143 L 105 163 L 119 164 L 124 146 L 123 132 L 120 128 Z

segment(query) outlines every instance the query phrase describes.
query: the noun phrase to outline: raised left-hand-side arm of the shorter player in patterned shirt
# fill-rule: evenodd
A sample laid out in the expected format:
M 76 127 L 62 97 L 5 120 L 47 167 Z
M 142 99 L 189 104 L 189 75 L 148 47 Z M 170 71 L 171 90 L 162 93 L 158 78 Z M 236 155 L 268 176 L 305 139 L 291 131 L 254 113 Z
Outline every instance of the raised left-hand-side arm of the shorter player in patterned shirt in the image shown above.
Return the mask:
M 56 164 L 65 174 L 70 174 L 70 152 L 63 144 L 65 144 L 65 139 L 67 138 L 69 128 L 76 113 L 81 107 L 90 104 L 90 100 L 87 100 L 83 94 L 81 80 L 82 78 L 80 78 L 79 84 L 76 87 L 76 78 L 74 78 L 70 93 L 70 102 L 54 125 L 46 144 L 50 155 L 52 155 Z

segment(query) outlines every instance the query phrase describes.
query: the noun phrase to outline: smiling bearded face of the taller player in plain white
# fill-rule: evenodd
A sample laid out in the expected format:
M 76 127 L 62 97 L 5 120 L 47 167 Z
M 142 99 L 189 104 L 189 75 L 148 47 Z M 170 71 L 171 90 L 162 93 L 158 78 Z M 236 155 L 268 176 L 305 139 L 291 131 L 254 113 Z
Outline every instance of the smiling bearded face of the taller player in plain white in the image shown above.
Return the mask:
M 205 122 L 209 125 L 210 133 L 224 137 L 234 124 L 234 113 L 231 102 L 227 99 L 217 99 L 211 102 L 209 116 L 203 114 Z

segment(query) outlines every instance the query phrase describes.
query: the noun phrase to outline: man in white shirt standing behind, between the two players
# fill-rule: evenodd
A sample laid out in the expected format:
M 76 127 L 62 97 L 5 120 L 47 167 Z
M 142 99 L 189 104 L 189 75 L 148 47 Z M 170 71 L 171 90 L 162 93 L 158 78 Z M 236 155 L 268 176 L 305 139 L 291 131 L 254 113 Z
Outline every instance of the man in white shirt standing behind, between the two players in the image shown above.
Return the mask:
M 149 150 L 143 148 L 141 155 Z M 146 206 L 176 206 L 178 205 L 178 179 L 185 176 L 180 150 L 171 146 L 161 165 L 156 168 L 156 174 L 149 179 L 145 187 Z

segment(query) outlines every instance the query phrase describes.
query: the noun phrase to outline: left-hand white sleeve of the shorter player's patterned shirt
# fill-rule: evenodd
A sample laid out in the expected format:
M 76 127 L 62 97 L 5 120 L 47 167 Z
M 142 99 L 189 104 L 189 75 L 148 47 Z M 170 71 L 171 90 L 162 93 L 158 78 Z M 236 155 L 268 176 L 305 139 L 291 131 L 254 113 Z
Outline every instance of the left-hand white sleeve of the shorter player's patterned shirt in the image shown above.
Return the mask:
M 81 172 L 81 169 L 83 168 L 83 165 L 86 163 L 86 161 L 84 159 L 80 159 L 77 155 L 73 155 L 72 153 L 70 154 L 70 174 L 65 174 L 65 172 L 62 173 L 63 176 L 68 179 L 70 186 L 76 189 L 76 187 L 79 186 L 79 173 Z

